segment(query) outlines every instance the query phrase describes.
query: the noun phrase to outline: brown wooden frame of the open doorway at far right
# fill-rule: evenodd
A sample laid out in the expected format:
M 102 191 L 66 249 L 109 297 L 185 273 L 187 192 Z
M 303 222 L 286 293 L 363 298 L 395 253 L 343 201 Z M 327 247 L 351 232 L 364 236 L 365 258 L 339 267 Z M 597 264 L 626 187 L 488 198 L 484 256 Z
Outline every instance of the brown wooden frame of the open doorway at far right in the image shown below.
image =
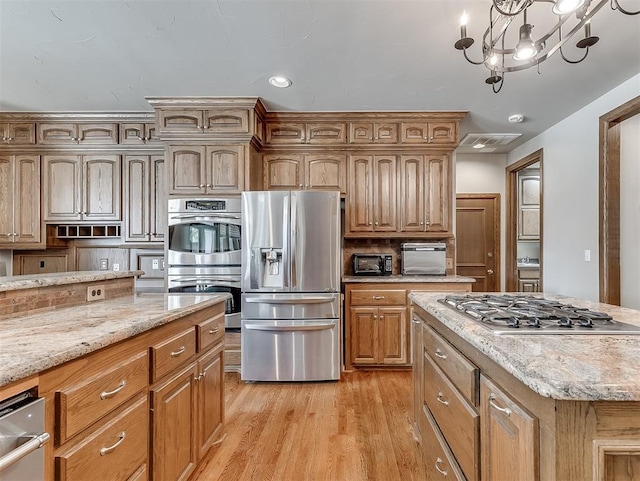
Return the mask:
M 600 117 L 600 302 L 620 305 L 620 124 L 640 114 L 640 96 Z

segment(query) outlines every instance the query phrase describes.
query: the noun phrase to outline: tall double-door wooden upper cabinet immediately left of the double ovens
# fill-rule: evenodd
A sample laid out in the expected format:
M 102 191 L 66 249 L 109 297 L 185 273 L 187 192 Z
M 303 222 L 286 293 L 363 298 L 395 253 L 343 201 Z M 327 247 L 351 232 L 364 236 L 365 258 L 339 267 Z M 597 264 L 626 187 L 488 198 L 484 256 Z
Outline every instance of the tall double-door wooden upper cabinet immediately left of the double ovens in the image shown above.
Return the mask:
M 167 231 L 163 155 L 123 158 L 124 240 L 161 242 Z

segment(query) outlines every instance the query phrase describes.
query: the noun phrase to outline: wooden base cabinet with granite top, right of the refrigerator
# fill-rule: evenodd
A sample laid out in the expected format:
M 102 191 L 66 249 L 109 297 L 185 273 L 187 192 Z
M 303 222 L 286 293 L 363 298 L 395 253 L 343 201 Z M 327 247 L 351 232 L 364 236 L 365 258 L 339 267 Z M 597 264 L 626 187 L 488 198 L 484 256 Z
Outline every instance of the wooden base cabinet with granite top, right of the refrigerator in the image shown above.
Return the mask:
M 345 369 L 411 368 L 408 294 L 470 292 L 462 276 L 344 276 Z

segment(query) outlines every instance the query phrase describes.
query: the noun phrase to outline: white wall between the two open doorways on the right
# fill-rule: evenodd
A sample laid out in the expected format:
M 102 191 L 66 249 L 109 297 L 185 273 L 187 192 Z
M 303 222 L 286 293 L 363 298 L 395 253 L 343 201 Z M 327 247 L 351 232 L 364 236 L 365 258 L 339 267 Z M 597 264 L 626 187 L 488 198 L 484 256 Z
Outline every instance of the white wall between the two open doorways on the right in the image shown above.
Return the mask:
M 545 292 L 598 300 L 599 118 L 638 95 L 640 74 L 507 155 L 512 164 L 543 149 Z

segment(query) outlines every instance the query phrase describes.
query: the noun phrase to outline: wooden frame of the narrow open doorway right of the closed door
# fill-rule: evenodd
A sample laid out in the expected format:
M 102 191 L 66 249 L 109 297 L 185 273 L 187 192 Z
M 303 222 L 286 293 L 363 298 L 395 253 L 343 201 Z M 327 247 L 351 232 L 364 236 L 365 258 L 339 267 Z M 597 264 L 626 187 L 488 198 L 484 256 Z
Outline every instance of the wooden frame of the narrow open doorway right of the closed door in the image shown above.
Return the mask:
M 542 231 L 543 225 L 543 190 L 544 190 L 544 181 L 543 181 L 543 149 L 537 150 L 523 159 L 520 159 L 517 162 L 514 162 L 511 165 L 507 166 L 506 169 L 506 221 L 505 221 L 505 235 L 506 235 L 506 244 L 505 244 L 505 291 L 507 292 L 517 292 L 518 290 L 518 264 L 517 264 L 517 255 L 518 255 L 518 172 L 522 169 L 529 167 L 536 162 L 540 162 L 540 291 L 544 291 L 542 280 L 542 258 L 543 258 L 543 242 L 542 242 Z

